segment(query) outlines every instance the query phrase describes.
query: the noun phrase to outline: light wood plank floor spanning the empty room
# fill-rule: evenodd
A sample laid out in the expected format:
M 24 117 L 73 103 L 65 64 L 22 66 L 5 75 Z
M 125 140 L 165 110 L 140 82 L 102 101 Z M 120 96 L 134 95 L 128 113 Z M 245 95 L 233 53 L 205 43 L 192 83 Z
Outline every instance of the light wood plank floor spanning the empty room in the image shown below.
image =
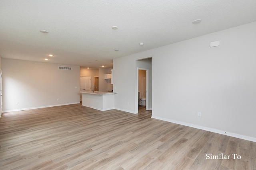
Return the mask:
M 0 169 L 256 169 L 256 143 L 152 119 L 151 111 L 139 110 L 74 104 L 3 113 Z M 241 158 L 206 159 L 221 153 Z

